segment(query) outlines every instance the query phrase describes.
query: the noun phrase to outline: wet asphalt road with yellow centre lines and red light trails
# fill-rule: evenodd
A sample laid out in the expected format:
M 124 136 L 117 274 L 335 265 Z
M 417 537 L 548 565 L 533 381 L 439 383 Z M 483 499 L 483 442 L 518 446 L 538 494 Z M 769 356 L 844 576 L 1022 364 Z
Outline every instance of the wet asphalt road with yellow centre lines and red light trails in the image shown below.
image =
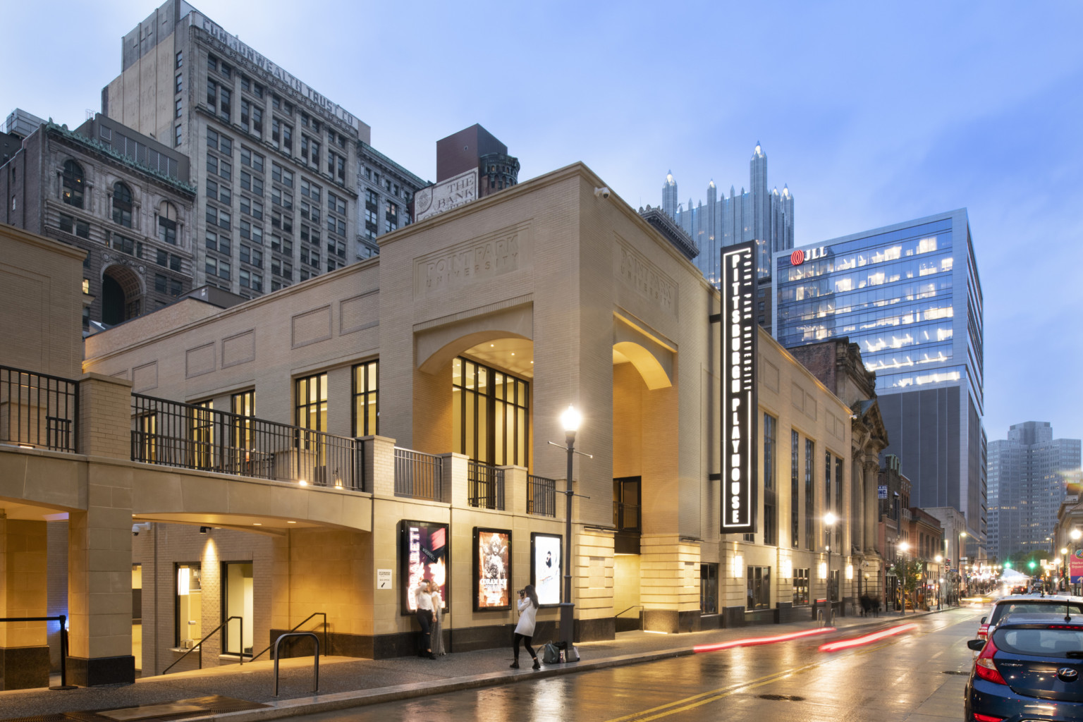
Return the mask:
M 943 722 L 963 717 L 963 687 L 981 615 L 961 608 L 919 617 L 917 629 L 823 653 L 808 638 L 628 667 L 310 714 L 316 722 Z M 883 627 L 900 623 L 893 619 Z

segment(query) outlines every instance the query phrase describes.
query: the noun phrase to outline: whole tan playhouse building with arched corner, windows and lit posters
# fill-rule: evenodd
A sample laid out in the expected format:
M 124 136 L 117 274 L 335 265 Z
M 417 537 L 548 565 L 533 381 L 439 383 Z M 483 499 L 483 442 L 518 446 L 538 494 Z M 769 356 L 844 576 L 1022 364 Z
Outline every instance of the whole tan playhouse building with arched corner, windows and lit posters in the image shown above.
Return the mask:
M 144 675 L 230 616 L 242 626 L 208 642 L 205 665 L 318 613 L 334 654 L 413 654 L 422 576 L 443 587 L 451 651 L 506 644 L 508 592 L 526 583 L 546 591 L 546 638 L 566 544 L 578 640 L 811 618 L 828 578 L 841 608 L 864 535 L 850 408 L 751 325 L 756 524 L 721 534 L 722 300 L 604 185 L 572 165 L 282 293 L 225 310 L 187 298 L 90 337 L 79 388 L 96 395 L 80 413 L 112 415 L 80 426 L 104 434 L 96 456 L 0 447 L 23 464 L 0 501 L 75 518 L 78 495 L 47 511 L 25 480 L 45 462 L 125 470 L 106 486 L 127 489 L 109 496 L 126 513 L 94 518 L 128 555 L 93 559 L 114 580 L 140 565 Z M 574 463 L 567 538 L 566 454 L 548 442 L 570 404 L 592 458 Z

